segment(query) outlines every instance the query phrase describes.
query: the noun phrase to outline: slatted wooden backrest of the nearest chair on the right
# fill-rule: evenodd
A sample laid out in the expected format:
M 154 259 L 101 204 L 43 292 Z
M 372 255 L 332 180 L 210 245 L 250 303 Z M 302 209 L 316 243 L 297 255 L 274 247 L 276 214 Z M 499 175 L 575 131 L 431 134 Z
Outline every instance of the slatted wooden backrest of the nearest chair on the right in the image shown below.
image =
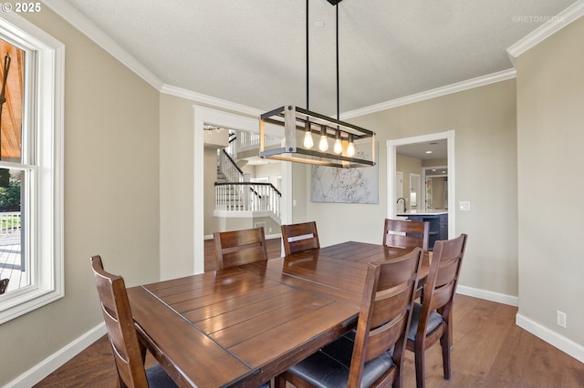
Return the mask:
M 401 367 L 421 263 L 422 250 L 415 248 L 400 258 L 369 264 L 350 363 L 349 387 L 361 385 L 365 362 L 392 347 L 393 363 L 396 368 Z M 376 386 L 392 383 L 396 368 L 384 373 Z

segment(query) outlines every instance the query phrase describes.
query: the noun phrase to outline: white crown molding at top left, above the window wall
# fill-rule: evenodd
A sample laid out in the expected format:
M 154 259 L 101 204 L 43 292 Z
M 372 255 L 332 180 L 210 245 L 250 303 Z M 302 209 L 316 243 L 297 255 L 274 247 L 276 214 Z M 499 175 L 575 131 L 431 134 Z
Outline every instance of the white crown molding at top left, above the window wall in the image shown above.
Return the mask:
M 118 59 L 124 66 L 130 68 L 135 74 L 149 83 L 152 87 L 160 90 L 163 86 L 162 81 L 154 76 L 151 71 L 143 66 L 136 58 L 120 47 L 110 36 L 107 36 L 98 26 L 95 26 L 87 17 L 82 15 L 72 5 L 62 0 L 44 0 L 49 8 L 57 15 L 68 21 L 69 24 L 77 28 L 82 34 L 88 36 L 98 46 L 110 53 L 111 56 Z

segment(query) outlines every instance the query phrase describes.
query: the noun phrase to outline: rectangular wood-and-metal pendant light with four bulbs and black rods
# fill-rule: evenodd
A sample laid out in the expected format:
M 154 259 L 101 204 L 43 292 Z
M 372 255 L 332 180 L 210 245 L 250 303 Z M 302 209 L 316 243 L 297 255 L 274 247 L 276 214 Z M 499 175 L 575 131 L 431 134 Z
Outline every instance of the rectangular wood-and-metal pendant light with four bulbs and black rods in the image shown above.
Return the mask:
M 308 101 L 308 0 L 307 0 L 307 108 L 286 105 L 260 116 L 261 158 L 274 158 L 339 168 L 375 166 L 375 133 L 339 119 L 339 2 L 327 0 L 337 8 L 337 118 L 309 110 Z M 284 140 L 279 148 L 266 148 L 266 123 L 284 128 Z M 301 135 L 300 135 L 301 134 Z M 303 147 L 297 137 L 302 136 Z M 313 136 L 319 137 L 315 148 Z M 328 139 L 333 147 L 328 147 Z

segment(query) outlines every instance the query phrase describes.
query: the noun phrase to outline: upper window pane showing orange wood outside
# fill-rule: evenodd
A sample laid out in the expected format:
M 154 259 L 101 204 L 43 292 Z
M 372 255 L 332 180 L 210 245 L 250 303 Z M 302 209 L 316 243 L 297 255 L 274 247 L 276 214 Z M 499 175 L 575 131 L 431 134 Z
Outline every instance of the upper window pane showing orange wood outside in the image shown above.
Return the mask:
M 21 162 L 25 52 L 0 39 L 0 160 Z

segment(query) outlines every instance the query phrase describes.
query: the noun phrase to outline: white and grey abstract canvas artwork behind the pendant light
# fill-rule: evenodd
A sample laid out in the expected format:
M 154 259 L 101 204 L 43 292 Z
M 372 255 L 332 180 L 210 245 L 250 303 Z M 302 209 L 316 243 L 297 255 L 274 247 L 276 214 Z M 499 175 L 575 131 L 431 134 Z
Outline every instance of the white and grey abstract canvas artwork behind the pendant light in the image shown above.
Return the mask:
M 357 151 L 357 158 L 365 155 Z M 379 203 L 379 168 L 310 168 L 310 199 L 313 202 Z

